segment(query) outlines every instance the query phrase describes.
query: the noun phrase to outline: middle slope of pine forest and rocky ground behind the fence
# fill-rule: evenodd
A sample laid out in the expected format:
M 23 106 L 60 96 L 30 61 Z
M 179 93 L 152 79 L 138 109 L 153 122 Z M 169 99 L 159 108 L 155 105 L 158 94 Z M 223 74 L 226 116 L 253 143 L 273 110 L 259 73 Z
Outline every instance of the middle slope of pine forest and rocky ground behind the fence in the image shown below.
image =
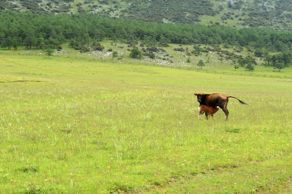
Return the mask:
M 292 33 L 270 28 L 228 28 L 217 24 L 160 24 L 98 17 L 94 14 L 44 15 L 0 12 L 0 47 L 67 55 L 68 45 L 79 55 L 131 60 L 168 66 L 232 69 L 253 65 L 281 69 L 292 61 Z M 117 52 L 112 55 L 114 52 Z M 97 54 L 97 55 L 96 55 Z M 278 68 L 279 67 L 279 68 Z M 248 68 L 253 71 L 252 67 Z M 269 71 L 273 71 L 270 69 Z

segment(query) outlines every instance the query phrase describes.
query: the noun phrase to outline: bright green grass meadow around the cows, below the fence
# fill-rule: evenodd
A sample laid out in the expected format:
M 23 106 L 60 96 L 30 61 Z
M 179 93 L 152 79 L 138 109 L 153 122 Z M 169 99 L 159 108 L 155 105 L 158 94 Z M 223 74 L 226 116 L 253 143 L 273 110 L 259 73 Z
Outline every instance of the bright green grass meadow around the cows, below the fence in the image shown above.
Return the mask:
M 288 193 L 291 79 L 0 59 L 1 193 Z M 198 120 L 194 92 L 223 111 Z

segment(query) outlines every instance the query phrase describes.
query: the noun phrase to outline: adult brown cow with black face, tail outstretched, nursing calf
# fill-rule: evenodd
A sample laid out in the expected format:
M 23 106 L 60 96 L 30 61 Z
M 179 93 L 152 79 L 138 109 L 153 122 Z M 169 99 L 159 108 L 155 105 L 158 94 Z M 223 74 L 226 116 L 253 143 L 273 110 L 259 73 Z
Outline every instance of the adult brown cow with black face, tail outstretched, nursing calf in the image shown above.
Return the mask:
M 197 92 L 197 93 L 194 93 L 194 95 L 197 96 L 197 100 L 200 104 L 213 106 L 213 107 L 219 106 L 222 109 L 222 111 L 225 113 L 226 120 L 228 120 L 228 115 L 229 115 L 229 111 L 227 110 L 228 98 L 238 99 L 236 97 L 226 96 L 225 94 L 220 94 L 220 93 L 204 94 L 201 92 Z M 239 102 L 241 102 L 242 104 L 246 104 L 242 102 L 241 100 L 239 100 Z M 208 119 L 207 113 L 206 113 L 206 119 Z

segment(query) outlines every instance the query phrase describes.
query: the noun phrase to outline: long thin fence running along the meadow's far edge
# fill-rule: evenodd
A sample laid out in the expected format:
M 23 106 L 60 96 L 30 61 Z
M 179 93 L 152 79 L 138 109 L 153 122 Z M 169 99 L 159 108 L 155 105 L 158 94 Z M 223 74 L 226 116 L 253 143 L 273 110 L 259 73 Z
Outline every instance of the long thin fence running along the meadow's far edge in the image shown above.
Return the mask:
M 27 55 L 27 56 L 46 56 L 44 54 L 32 54 L 32 53 L 5 53 L 0 52 L 0 55 Z M 192 69 L 187 67 L 180 66 L 171 66 L 171 65 L 160 65 L 154 63 L 141 63 L 141 62 L 132 62 L 125 60 L 106 60 L 106 59 L 98 59 L 91 57 L 80 57 L 80 56 L 68 56 L 68 55 L 51 55 L 53 57 L 63 57 L 63 58 L 72 58 L 72 59 L 84 59 L 84 60 L 93 60 L 100 62 L 108 62 L 108 63 L 124 63 L 124 64 L 133 64 L 133 65 L 147 65 L 147 66 L 156 66 L 156 67 L 167 67 L 173 69 L 181 69 L 181 70 L 189 70 L 196 72 L 205 72 L 205 73 L 214 73 L 214 74 L 223 74 L 223 75 L 239 75 L 239 76 L 250 76 L 250 77 L 269 77 L 269 78 L 284 78 L 284 79 L 292 79 L 292 76 L 280 76 L 280 75 L 265 75 L 265 74 L 247 74 L 247 73 L 236 73 L 236 72 L 223 72 L 223 71 L 212 71 L 212 70 L 201 70 L 201 69 Z

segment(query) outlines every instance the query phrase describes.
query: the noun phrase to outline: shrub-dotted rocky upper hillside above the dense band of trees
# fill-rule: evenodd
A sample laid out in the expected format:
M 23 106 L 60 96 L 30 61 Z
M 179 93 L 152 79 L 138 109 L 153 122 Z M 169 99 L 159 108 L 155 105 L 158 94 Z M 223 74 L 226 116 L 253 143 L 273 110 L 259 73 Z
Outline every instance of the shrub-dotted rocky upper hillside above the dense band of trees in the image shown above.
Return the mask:
M 0 10 L 60 14 L 94 13 L 158 23 L 212 24 L 230 27 L 265 26 L 291 30 L 292 1 L 192 0 L 21 0 L 0 1 Z

